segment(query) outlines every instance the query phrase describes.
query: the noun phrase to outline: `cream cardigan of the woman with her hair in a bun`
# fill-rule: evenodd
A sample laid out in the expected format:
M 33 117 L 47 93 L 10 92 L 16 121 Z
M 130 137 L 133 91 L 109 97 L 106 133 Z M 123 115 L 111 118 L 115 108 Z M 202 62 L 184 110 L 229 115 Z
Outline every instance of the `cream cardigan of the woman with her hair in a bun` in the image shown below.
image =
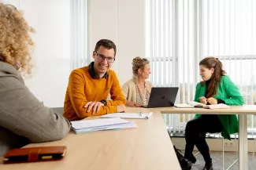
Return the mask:
M 127 81 L 124 83 L 124 85 L 122 86 L 122 91 L 124 93 L 124 98 L 127 100 L 127 101 L 132 101 L 132 102 L 138 102 L 138 101 L 141 101 L 144 102 L 147 102 L 148 103 L 148 100 L 149 100 L 149 94 L 151 92 L 151 89 L 152 89 L 152 84 L 150 81 L 146 81 L 145 82 L 145 89 L 142 91 L 145 91 L 145 92 L 142 92 L 142 95 L 139 95 L 138 92 L 139 92 L 139 89 L 138 89 L 138 86 L 136 88 L 136 82 L 135 82 L 135 79 L 132 78 L 131 80 Z M 139 96 L 138 96 L 139 95 Z M 141 96 L 141 98 L 138 99 L 138 97 Z M 148 96 L 148 97 L 147 97 Z M 145 101 L 146 100 L 146 101 Z M 141 104 L 143 104 L 141 103 Z M 147 105 L 147 104 L 143 104 L 143 105 Z

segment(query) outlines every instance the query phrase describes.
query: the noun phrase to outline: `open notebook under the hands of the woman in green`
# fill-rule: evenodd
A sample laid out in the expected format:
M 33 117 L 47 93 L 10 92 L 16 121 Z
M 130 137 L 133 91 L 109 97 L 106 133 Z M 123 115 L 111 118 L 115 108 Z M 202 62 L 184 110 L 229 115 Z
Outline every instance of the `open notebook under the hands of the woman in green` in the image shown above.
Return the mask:
M 229 108 L 229 106 L 224 104 L 224 103 L 206 105 L 206 104 L 198 103 L 198 102 L 194 102 L 194 101 L 190 101 L 187 104 L 175 104 L 174 107 L 177 107 L 177 108 L 202 107 L 202 108 L 205 108 L 205 109 L 225 109 L 225 108 Z

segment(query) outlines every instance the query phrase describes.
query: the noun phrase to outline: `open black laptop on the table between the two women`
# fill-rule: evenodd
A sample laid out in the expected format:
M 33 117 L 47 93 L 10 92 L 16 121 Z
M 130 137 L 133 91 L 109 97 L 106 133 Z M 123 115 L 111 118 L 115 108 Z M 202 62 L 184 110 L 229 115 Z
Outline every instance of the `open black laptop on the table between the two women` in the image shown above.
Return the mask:
M 178 90 L 178 87 L 153 87 L 148 105 L 143 107 L 173 107 Z

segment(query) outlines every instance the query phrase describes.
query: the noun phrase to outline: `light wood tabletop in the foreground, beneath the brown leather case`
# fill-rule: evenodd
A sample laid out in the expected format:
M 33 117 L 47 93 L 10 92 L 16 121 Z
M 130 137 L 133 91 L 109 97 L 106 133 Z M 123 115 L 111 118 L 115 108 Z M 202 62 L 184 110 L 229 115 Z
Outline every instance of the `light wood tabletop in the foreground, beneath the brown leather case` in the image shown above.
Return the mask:
M 128 107 L 127 112 L 139 113 L 140 109 L 142 108 Z M 146 113 L 147 110 L 143 111 Z M 28 145 L 65 145 L 67 152 L 61 161 L 2 165 L 2 157 L 0 157 L 0 169 L 181 170 L 159 111 L 156 110 L 148 120 L 130 119 L 130 121 L 135 121 L 138 128 L 79 135 L 69 132 L 65 139 L 59 141 Z

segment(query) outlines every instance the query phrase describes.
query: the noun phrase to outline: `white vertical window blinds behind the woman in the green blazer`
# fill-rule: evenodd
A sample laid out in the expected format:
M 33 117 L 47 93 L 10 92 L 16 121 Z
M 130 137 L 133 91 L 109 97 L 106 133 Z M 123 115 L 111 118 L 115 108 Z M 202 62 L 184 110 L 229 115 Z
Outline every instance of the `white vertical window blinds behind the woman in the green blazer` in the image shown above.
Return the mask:
M 147 2 L 147 57 L 154 86 L 176 86 L 176 103 L 195 96 L 198 63 L 221 60 L 245 104 L 256 104 L 256 2 L 254 0 L 150 0 Z M 184 130 L 193 115 L 164 115 L 169 128 Z M 249 115 L 248 132 L 256 119 Z

